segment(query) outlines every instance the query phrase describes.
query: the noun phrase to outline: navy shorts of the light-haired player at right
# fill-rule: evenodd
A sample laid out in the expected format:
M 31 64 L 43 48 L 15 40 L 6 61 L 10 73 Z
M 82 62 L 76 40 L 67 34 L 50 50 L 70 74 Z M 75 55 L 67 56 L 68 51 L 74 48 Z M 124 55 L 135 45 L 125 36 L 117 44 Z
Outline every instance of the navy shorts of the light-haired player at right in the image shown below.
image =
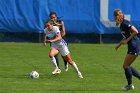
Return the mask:
M 131 40 L 128 43 L 128 54 L 132 55 L 140 55 L 140 41 L 139 40 Z

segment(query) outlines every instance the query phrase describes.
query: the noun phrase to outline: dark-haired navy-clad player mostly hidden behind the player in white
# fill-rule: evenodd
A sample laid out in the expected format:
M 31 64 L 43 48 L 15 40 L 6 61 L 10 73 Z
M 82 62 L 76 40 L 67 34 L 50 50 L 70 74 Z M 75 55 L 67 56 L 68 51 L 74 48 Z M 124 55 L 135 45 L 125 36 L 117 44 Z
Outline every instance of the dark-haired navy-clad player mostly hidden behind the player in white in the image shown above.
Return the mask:
M 56 12 L 51 12 L 49 15 L 50 19 L 53 21 L 53 25 L 57 26 L 59 28 L 59 30 L 61 31 L 61 36 L 63 37 L 63 39 L 65 40 L 65 35 L 66 35 L 66 31 L 65 31 L 65 26 L 64 26 L 64 22 L 62 20 L 59 20 L 59 18 L 57 17 Z M 59 67 L 59 58 L 58 55 L 55 56 L 56 59 L 56 63 Z M 68 71 L 68 63 L 67 61 L 63 58 L 64 61 L 64 69 L 65 71 Z M 60 67 L 59 67 L 60 68 Z

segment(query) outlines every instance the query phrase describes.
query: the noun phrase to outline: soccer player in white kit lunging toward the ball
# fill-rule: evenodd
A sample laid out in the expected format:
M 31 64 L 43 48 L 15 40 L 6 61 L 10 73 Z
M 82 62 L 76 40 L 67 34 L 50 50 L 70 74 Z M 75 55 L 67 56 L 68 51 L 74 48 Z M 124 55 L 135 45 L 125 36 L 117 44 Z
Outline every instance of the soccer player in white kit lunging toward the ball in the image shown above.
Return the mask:
M 44 29 L 44 46 L 46 45 L 46 42 L 50 42 L 51 49 L 49 53 L 49 57 L 51 59 L 52 64 L 54 65 L 55 69 L 52 72 L 52 74 L 58 74 L 60 73 L 60 69 L 58 68 L 56 64 L 56 59 L 54 58 L 55 55 L 57 55 L 59 52 L 63 56 L 63 58 L 73 66 L 75 71 L 77 72 L 77 75 L 79 78 L 83 78 L 81 72 L 79 71 L 76 63 L 72 60 L 70 52 L 68 50 L 66 42 L 62 39 L 60 30 L 57 26 L 53 26 L 53 21 L 48 20 L 45 24 Z

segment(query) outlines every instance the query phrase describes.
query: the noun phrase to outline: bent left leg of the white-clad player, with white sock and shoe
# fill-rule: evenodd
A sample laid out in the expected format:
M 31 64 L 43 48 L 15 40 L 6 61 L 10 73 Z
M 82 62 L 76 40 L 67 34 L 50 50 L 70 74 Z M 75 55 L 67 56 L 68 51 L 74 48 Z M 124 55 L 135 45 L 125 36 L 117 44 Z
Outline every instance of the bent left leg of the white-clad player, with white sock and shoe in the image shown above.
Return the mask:
M 54 71 L 52 72 L 52 74 L 59 74 L 61 72 L 61 70 L 58 68 L 57 63 L 56 63 L 56 59 L 55 59 L 55 55 L 58 54 L 58 50 L 55 48 L 51 48 L 50 49 L 50 53 L 49 53 L 49 57 L 51 59 L 51 63 L 54 65 Z

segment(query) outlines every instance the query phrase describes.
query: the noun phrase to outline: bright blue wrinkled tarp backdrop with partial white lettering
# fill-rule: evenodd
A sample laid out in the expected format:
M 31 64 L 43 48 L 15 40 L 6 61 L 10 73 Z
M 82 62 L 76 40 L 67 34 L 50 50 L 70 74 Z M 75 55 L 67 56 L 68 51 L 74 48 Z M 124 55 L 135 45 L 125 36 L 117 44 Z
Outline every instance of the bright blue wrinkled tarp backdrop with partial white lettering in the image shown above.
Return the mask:
M 42 33 L 51 11 L 63 16 L 69 33 L 119 33 L 114 9 L 140 29 L 140 0 L 0 0 L 0 32 Z

